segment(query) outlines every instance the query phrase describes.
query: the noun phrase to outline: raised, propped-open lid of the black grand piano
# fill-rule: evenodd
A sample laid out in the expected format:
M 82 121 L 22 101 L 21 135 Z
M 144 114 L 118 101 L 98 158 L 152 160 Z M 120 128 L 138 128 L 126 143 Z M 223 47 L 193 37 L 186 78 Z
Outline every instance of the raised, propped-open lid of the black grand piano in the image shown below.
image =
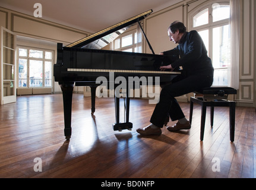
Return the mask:
M 153 10 L 143 12 L 135 17 L 122 21 L 121 23 L 110 26 L 107 29 L 98 31 L 97 33 L 91 34 L 90 36 L 84 37 L 83 39 L 73 42 L 66 47 L 102 49 L 102 47 L 105 47 L 110 42 L 115 40 L 116 37 L 122 34 L 129 27 L 133 26 L 138 21 L 143 20 L 148 15 L 150 15 L 151 12 L 153 12 Z

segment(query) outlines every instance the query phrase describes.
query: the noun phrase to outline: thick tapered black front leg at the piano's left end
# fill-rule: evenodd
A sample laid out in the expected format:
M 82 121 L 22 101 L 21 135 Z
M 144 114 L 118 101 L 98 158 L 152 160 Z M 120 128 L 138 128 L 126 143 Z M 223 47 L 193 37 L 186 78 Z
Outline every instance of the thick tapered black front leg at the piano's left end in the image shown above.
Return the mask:
M 64 106 L 64 135 L 69 141 L 71 138 L 71 110 L 72 110 L 72 94 L 74 84 L 60 84 L 63 96 Z

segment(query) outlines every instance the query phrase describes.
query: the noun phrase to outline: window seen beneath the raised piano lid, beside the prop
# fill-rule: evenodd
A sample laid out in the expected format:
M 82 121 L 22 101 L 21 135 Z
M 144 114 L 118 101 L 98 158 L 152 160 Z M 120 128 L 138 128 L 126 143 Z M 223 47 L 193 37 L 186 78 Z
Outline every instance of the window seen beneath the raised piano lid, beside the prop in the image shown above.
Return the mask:
M 113 50 L 141 53 L 141 33 L 132 30 L 120 35 L 113 42 Z

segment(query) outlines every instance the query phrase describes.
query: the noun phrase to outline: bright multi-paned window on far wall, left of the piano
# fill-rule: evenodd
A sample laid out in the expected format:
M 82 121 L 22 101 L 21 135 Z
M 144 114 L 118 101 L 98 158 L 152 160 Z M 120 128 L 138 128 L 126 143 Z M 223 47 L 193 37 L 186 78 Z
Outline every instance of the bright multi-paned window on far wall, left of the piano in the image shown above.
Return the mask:
M 53 51 L 18 47 L 18 87 L 52 87 Z

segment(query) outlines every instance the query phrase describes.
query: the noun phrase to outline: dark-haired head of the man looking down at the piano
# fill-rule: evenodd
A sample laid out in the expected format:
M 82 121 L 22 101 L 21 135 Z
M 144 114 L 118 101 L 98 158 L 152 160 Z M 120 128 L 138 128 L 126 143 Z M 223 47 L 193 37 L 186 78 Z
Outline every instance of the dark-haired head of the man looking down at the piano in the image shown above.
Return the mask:
M 187 28 L 184 26 L 183 23 L 179 21 L 174 21 L 172 24 L 170 24 L 167 33 L 170 37 L 170 41 L 173 41 L 174 43 L 179 43 L 179 40 L 181 39 L 185 31 L 187 31 Z

